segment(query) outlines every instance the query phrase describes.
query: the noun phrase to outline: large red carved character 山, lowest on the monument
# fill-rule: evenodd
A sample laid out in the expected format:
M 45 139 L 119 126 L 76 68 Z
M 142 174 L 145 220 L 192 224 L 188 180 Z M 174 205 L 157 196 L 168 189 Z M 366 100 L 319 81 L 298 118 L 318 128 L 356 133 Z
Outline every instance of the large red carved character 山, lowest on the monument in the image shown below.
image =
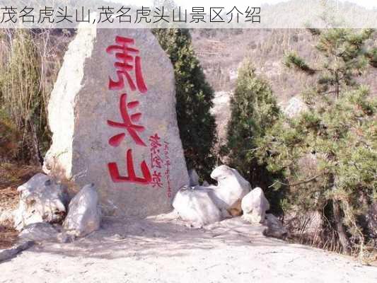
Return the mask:
M 137 177 L 135 170 L 134 170 L 134 160 L 132 158 L 132 149 L 127 150 L 126 154 L 126 161 L 127 161 L 127 176 L 122 176 L 119 173 L 119 169 L 117 163 L 108 163 L 108 168 L 110 172 L 110 176 L 112 182 L 114 183 L 122 183 L 122 182 L 132 182 L 132 183 L 139 183 L 142 185 L 147 185 L 151 183 L 152 177 L 151 172 L 149 171 L 146 162 L 141 162 L 140 168 L 143 177 Z

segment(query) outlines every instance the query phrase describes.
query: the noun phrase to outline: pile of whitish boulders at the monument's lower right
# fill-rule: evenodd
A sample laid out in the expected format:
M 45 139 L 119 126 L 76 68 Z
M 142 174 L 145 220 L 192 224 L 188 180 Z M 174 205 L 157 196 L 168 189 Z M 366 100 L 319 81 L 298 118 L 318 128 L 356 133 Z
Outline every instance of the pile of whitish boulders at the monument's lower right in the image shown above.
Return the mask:
M 190 176 L 195 174 L 190 172 Z M 211 178 L 218 185 L 185 186 L 175 195 L 173 207 L 183 221 L 192 227 L 202 228 L 243 214 L 241 219 L 245 223 L 262 225 L 266 236 L 286 236 L 287 231 L 281 221 L 266 213 L 269 202 L 260 187 L 251 190 L 250 183 L 236 169 L 225 165 L 215 168 Z M 195 177 L 195 180 L 199 178 Z

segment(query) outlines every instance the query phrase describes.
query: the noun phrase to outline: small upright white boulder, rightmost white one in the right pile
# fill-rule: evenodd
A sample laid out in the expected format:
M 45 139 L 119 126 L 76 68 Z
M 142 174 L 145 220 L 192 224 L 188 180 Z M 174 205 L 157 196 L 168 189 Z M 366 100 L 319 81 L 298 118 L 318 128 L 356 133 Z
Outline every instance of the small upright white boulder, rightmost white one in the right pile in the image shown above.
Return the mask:
M 243 219 L 250 223 L 262 223 L 265 221 L 266 211 L 269 209 L 269 202 L 260 187 L 243 197 L 241 202 Z

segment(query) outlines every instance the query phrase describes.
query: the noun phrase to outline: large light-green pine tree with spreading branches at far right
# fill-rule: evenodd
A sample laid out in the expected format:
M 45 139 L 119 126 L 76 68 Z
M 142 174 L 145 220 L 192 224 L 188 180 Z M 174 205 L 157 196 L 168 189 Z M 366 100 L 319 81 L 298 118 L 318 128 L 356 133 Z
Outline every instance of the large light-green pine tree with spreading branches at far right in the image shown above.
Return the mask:
M 363 248 L 369 236 L 361 218 L 377 200 L 377 100 L 357 77 L 374 66 L 373 30 L 311 30 L 322 57 L 311 67 L 297 54 L 287 54 L 287 67 L 316 75 L 314 88 L 303 93 L 309 110 L 293 120 L 282 118 L 257 141 L 269 171 L 288 183 L 289 204 L 302 210 L 324 210 L 337 231 L 342 250 Z M 315 159 L 313 168 L 303 166 Z M 362 200 L 362 201 L 361 201 Z

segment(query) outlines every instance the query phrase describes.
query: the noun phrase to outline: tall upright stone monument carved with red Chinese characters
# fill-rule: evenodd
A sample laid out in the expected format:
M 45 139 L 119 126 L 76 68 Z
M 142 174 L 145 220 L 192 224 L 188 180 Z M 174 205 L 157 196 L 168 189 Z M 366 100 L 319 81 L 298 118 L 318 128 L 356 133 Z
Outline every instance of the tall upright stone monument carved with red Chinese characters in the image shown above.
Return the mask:
M 93 183 L 105 214 L 168 212 L 189 184 L 173 67 L 149 30 L 79 29 L 48 110 L 46 173 Z

